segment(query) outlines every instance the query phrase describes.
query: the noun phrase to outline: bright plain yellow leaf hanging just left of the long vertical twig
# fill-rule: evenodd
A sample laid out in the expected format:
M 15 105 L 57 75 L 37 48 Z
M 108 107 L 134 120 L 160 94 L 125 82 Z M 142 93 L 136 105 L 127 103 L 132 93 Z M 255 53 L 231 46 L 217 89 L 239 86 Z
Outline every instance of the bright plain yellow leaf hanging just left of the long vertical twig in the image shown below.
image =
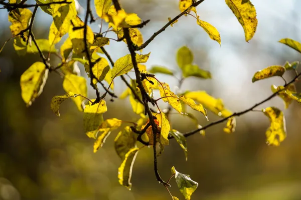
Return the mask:
M 66 92 L 71 91 L 76 94 L 87 96 L 87 81 L 86 78 L 82 76 L 77 76 L 72 73 L 66 74 L 63 81 L 63 88 Z M 72 98 L 79 111 L 83 111 L 82 102 L 84 99 L 84 97 L 80 96 L 77 98 Z

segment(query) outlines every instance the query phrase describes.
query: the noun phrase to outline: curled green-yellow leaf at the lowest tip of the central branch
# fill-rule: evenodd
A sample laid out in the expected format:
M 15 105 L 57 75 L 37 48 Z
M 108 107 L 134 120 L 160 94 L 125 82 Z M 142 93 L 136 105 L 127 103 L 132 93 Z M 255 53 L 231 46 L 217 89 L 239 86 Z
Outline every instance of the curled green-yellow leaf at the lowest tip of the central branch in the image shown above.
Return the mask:
M 172 173 L 175 174 L 176 182 L 181 193 L 185 199 L 190 200 L 192 193 L 197 189 L 199 183 L 192 180 L 189 175 L 178 172 L 174 166 L 172 167 Z

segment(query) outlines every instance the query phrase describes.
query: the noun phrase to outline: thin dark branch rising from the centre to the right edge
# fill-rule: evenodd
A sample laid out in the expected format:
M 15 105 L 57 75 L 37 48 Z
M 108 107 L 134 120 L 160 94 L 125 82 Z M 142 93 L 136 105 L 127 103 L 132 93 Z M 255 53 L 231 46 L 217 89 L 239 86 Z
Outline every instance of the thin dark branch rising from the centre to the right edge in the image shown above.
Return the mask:
M 193 134 L 199 132 L 200 130 L 205 130 L 205 129 L 207 129 L 207 128 L 213 126 L 213 125 L 222 123 L 222 122 L 226 121 L 227 119 L 229 119 L 229 118 L 231 118 L 231 117 L 233 117 L 233 116 L 240 116 L 240 115 L 245 114 L 245 113 L 247 113 L 247 112 L 249 112 L 249 111 L 252 111 L 252 110 L 253 110 L 255 107 L 257 107 L 258 105 L 261 105 L 262 103 L 265 103 L 266 101 L 268 101 L 268 100 L 270 100 L 271 98 L 275 97 L 279 92 L 283 91 L 287 85 L 289 85 L 289 84 L 295 82 L 300 76 L 301 76 L 301 73 L 297 74 L 291 81 L 289 81 L 289 82 L 287 82 L 286 84 L 283 85 L 283 87 L 284 87 L 283 89 L 280 89 L 280 90 L 276 91 L 275 93 L 269 95 L 268 97 L 266 97 L 265 99 L 263 99 L 263 100 L 261 100 L 260 102 L 256 103 L 255 105 L 253 105 L 253 106 L 251 106 L 251 107 L 249 107 L 249 108 L 247 108 L 247 109 L 245 109 L 245 110 L 242 110 L 242 111 L 240 111 L 240 112 L 234 112 L 234 113 L 231 114 L 230 116 L 227 116 L 227 117 L 225 117 L 225 118 L 222 118 L 222 119 L 217 120 L 217 121 L 214 121 L 214 122 L 211 122 L 211 123 L 209 123 L 209 124 L 207 124 L 207 125 L 205 125 L 205 126 L 203 126 L 203 127 L 201 127 L 201 128 L 198 128 L 198 129 L 195 129 L 195 130 L 186 132 L 186 133 L 184 133 L 183 135 L 184 135 L 185 137 L 188 137 L 188 136 L 190 136 L 190 135 L 193 135 Z M 174 137 L 173 137 L 173 136 L 169 136 L 168 138 L 169 138 L 169 139 L 172 139 L 172 138 L 174 138 Z

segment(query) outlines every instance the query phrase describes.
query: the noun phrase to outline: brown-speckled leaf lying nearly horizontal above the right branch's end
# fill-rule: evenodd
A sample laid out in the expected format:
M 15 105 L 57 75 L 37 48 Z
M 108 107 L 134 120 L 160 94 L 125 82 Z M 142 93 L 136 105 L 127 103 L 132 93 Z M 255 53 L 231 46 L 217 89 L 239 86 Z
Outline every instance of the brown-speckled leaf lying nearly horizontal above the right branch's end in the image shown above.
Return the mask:
M 285 72 L 284 66 L 280 66 L 280 65 L 268 66 L 262 70 L 257 71 L 252 78 L 252 82 L 264 78 L 272 77 L 272 76 L 282 76 L 284 72 Z

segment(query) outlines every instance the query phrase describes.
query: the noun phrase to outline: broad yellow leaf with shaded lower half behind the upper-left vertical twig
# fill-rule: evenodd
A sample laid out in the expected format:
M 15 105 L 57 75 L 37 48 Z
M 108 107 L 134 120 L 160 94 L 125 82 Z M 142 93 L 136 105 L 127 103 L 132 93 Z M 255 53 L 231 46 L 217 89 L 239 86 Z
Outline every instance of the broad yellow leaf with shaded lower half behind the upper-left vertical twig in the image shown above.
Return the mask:
M 76 16 L 75 19 L 72 19 L 72 22 L 75 27 L 84 26 L 84 22 Z M 73 25 L 69 28 L 69 37 L 73 44 L 73 51 L 75 54 L 81 54 L 85 50 L 85 42 L 84 42 L 84 28 L 73 30 Z M 92 44 L 94 41 L 94 33 L 90 26 L 87 26 L 87 42 L 88 44 Z M 89 47 L 90 48 L 90 47 Z

